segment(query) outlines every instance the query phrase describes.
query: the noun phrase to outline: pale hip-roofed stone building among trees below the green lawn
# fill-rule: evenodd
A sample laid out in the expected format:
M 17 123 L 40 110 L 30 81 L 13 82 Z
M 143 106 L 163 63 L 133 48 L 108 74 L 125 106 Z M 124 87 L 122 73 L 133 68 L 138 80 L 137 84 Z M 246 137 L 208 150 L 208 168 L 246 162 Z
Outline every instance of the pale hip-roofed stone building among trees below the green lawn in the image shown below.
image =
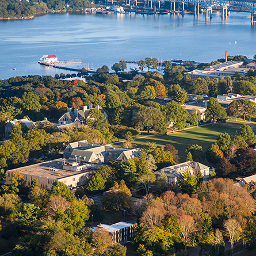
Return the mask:
M 186 170 L 188 170 L 192 176 L 196 176 L 198 172 L 201 171 L 204 180 L 209 178 L 209 167 L 194 161 L 178 163 L 177 165 L 165 167 L 159 171 L 155 171 L 154 174 L 156 175 L 156 178 L 158 178 L 159 175 L 161 175 L 161 171 L 163 171 L 163 173 L 165 173 L 167 176 L 168 183 L 171 185 L 176 185 L 178 184 L 179 176 Z

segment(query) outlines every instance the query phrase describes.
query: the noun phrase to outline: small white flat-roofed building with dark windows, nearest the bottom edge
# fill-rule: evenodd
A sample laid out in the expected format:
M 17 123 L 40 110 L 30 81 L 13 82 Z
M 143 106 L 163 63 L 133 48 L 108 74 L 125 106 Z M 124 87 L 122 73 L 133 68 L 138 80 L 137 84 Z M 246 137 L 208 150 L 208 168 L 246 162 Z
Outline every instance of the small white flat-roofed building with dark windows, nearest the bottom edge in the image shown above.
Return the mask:
M 97 227 L 91 228 L 94 232 L 97 228 L 104 228 L 112 236 L 114 243 L 126 243 L 129 238 L 133 236 L 133 223 L 120 221 L 112 225 L 99 224 Z

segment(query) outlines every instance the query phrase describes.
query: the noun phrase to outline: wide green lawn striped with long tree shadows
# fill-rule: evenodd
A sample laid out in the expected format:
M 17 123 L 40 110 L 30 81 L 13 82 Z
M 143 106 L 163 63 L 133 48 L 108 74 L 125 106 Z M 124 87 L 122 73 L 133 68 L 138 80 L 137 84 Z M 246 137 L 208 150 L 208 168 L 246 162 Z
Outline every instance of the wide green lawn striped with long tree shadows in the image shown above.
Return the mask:
M 219 133 L 227 132 L 230 135 L 235 135 L 239 127 L 245 123 L 228 121 L 227 123 L 215 124 L 213 127 L 207 125 L 199 128 L 192 128 L 181 132 L 169 133 L 165 136 L 147 137 L 144 139 L 133 140 L 132 144 L 136 147 L 144 147 L 147 142 L 155 142 L 156 146 L 163 147 L 166 144 L 173 144 L 179 151 L 178 155 L 181 157 L 180 162 L 184 162 L 186 158 L 185 150 L 192 144 L 202 146 L 203 150 L 215 143 Z M 254 129 L 256 132 L 256 127 Z

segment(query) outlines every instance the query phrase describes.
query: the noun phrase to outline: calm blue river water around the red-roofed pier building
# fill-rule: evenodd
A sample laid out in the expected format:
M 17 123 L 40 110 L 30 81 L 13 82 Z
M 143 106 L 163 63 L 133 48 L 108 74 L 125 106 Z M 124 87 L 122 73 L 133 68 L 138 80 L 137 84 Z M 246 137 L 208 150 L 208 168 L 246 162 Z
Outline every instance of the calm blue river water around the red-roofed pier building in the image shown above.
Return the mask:
M 225 51 L 252 58 L 256 25 L 251 26 L 249 15 L 232 12 L 222 21 L 217 12 L 207 23 L 203 14 L 135 13 L 49 14 L 33 20 L 0 21 L 0 79 L 60 74 L 63 70 L 37 64 L 42 55 L 52 54 L 59 60 L 81 59 L 95 70 L 104 64 L 111 67 L 120 59 L 211 62 L 224 58 Z

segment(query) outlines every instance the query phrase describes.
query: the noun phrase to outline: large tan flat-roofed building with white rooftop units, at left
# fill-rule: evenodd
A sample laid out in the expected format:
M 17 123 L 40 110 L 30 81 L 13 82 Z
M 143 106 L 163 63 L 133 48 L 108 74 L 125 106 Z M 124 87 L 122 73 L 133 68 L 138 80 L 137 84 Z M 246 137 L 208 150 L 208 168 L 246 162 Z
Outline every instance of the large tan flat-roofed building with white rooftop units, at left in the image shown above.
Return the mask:
M 30 186 L 33 179 L 37 178 L 41 188 L 51 189 L 55 181 L 63 182 L 69 188 L 75 188 L 85 185 L 90 175 L 100 166 L 103 165 L 60 158 L 8 170 L 6 184 L 12 184 L 12 173 L 18 171 L 23 175 L 27 186 Z

